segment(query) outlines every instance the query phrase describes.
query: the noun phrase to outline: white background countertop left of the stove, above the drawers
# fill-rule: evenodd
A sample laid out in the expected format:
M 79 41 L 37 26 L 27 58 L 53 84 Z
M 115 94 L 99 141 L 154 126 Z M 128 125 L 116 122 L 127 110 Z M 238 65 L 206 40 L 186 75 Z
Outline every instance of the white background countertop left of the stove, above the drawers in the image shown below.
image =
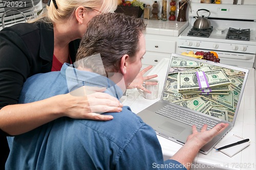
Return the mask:
M 178 37 L 180 33 L 185 30 L 188 26 L 188 21 L 178 22 L 178 21 L 162 21 L 162 20 L 150 20 L 144 19 L 146 23 L 146 33 L 147 34 L 157 34 L 157 35 L 167 35 Z

